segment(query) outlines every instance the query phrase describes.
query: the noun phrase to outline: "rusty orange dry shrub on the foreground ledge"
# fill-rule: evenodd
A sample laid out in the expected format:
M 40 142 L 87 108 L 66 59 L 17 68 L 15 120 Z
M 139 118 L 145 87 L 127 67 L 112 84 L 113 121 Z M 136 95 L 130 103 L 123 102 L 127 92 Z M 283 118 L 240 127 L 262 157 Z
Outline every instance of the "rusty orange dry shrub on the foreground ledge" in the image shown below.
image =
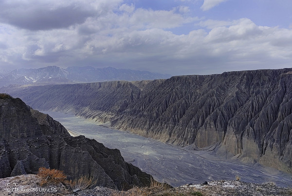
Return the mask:
M 56 169 L 49 169 L 45 167 L 40 167 L 38 169 L 37 176 L 41 177 L 40 186 L 43 186 L 49 182 L 52 183 L 59 183 L 64 182 L 67 176 L 64 174 L 63 171 L 56 170 Z

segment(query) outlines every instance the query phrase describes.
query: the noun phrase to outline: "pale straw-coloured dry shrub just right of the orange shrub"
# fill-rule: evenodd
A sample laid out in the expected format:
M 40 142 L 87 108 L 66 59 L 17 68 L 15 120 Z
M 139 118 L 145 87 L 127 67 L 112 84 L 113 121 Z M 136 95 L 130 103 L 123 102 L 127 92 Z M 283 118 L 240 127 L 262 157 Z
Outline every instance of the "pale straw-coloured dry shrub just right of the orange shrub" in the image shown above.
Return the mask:
M 93 177 L 81 176 L 78 179 L 66 180 L 65 184 L 67 188 L 76 193 L 77 191 L 88 189 L 91 185 L 96 184 L 97 180 L 93 180 Z

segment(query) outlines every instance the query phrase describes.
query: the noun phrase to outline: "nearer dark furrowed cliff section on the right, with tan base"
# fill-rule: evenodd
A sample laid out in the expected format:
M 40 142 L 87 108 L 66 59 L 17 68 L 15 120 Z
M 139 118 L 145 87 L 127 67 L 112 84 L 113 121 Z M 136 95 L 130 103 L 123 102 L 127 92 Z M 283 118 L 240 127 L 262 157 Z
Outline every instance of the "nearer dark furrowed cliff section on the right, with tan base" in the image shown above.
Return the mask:
M 112 126 L 180 146 L 221 144 L 220 155 L 290 171 L 291 104 L 291 69 L 172 77 L 144 88 Z

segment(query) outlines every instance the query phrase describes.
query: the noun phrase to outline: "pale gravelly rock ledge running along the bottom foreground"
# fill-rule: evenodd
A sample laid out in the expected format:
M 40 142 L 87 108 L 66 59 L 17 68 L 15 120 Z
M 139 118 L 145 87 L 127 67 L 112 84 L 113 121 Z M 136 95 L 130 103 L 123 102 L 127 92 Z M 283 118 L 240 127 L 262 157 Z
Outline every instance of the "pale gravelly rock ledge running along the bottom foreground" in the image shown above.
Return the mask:
M 0 179 L 1 196 L 145 196 L 166 195 L 194 195 L 201 193 L 203 196 L 291 196 L 291 188 L 277 187 L 273 182 L 263 184 L 247 183 L 236 180 L 219 180 L 208 182 L 207 185 L 188 184 L 172 189 L 159 188 L 134 188 L 126 191 L 117 191 L 106 187 L 97 186 L 93 189 L 83 190 L 71 194 L 64 185 L 48 184 L 40 187 L 40 179 L 36 175 L 21 175 Z M 8 184 L 9 183 L 9 184 Z M 15 184 L 16 186 L 15 186 Z M 8 184 L 8 186 L 7 186 Z M 18 188 L 13 190 L 12 188 Z M 33 191 L 35 190 L 35 191 Z

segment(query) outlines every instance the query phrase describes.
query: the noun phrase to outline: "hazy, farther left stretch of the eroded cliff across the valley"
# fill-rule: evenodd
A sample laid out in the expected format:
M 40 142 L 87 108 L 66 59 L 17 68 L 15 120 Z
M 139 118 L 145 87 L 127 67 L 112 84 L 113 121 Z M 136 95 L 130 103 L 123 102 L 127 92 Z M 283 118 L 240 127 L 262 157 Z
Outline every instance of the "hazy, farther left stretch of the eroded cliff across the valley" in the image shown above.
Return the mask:
M 39 110 L 72 112 L 102 122 L 121 115 L 140 95 L 140 89 L 128 81 L 34 86 L 6 92 Z

